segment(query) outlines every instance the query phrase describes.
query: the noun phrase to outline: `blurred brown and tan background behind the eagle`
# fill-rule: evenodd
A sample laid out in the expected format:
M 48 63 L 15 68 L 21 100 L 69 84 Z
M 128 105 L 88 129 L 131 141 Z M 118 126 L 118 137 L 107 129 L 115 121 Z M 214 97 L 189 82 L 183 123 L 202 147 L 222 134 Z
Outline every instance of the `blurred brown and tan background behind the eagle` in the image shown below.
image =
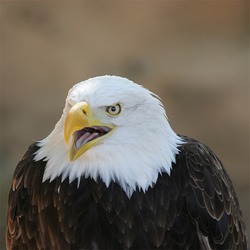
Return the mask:
M 248 1 L 1 1 L 1 245 L 13 171 L 68 90 L 127 77 L 225 165 L 249 233 Z M 250 238 L 250 237 L 249 237 Z

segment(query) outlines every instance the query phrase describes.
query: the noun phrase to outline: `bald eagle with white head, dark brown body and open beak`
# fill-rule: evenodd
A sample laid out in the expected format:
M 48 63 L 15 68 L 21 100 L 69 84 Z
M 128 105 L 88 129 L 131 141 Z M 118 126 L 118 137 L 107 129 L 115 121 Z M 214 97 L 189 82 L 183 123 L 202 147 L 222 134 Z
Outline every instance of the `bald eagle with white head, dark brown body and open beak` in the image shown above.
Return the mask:
M 232 182 L 176 134 L 155 94 L 121 77 L 76 84 L 9 193 L 7 249 L 247 249 Z

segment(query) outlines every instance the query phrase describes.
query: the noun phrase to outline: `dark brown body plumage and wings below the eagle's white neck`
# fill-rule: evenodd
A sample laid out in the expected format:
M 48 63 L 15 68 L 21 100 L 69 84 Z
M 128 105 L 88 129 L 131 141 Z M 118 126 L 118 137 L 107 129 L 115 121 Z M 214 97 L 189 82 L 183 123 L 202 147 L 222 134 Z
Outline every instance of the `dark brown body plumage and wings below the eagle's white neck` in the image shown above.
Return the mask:
M 119 183 L 42 182 L 47 161 L 30 146 L 9 194 L 7 249 L 247 249 L 232 182 L 205 145 L 182 137 L 171 174 L 128 197 Z

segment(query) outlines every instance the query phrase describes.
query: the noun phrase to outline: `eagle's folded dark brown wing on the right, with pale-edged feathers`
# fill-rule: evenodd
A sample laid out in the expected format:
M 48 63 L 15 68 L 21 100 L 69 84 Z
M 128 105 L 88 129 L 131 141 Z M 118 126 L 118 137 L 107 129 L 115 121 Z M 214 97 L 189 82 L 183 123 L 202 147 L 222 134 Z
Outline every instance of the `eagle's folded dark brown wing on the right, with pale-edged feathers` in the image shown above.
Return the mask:
M 188 215 L 202 244 L 211 249 L 246 249 L 246 232 L 232 181 L 215 154 L 205 145 L 186 141 L 177 164 L 186 168 Z

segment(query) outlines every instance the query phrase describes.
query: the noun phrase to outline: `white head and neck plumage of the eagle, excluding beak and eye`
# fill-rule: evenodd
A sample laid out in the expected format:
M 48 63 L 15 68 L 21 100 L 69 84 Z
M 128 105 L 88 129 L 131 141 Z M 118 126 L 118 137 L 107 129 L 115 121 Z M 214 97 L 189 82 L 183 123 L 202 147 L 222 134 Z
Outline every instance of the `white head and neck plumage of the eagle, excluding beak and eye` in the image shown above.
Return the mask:
M 71 162 L 63 128 L 70 107 L 81 101 L 89 103 L 100 121 L 116 129 Z M 121 114 L 108 116 L 105 107 L 116 103 L 122 106 Z M 69 177 L 70 182 L 100 177 L 106 186 L 111 181 L 118 183 L 130 197 L 136 188 L 145 192 L 160 173 L 170 175 L 181 143 L 156 95 L 128 79 L 101 76 L 80 82 L 69 91 L 62 117 L 51 134 L 39 142 L 35 160 L 47 161 L 43 181 L 60 175 L 62 180 Z

